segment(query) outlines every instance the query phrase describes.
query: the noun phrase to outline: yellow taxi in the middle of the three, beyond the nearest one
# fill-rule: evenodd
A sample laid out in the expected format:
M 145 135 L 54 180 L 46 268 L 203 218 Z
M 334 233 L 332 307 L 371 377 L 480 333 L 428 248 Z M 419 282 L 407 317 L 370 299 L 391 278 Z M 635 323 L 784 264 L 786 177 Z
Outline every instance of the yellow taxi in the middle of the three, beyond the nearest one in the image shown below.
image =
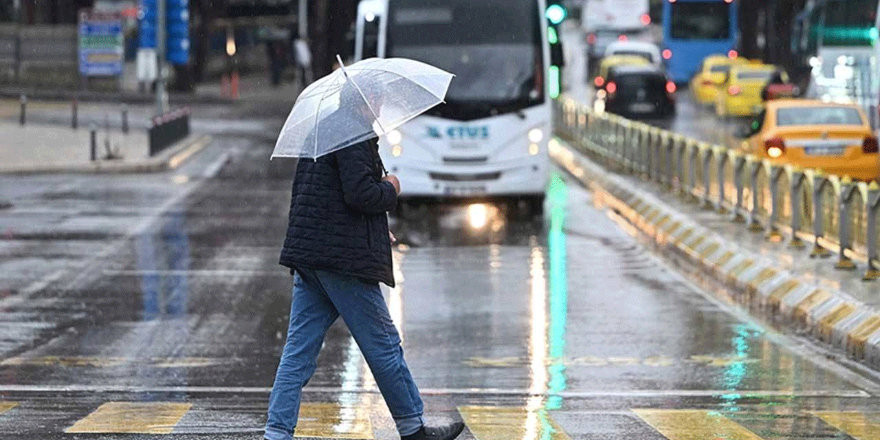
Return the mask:
M 788 83 L 788 75 L 766 64 L 742 64 L 730 67 L 727 77 L 715 94 L 715 114 L 718 116 L 752 116 L 764 108 L 761 92 L 774 76 L 780 73 Z

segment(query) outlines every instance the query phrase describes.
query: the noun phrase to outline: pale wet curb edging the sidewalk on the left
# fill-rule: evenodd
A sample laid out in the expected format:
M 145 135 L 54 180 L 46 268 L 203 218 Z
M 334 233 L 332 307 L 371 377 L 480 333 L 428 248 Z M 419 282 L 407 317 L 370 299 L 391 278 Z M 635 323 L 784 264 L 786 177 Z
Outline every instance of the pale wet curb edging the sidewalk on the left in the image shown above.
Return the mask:
M 110 161 L 98 161 L 92 164 L 38 166 L 18 169 L 12 168 L 8 170 L 0 170 L 0 175 L 162 172 L 177 168 L 199 150 L 208 146 L 213 140 L 213 137 L 209 135 L 190 135 L 158 155 L 152 158 L 144 158 L 138 162 L 116 163 Z

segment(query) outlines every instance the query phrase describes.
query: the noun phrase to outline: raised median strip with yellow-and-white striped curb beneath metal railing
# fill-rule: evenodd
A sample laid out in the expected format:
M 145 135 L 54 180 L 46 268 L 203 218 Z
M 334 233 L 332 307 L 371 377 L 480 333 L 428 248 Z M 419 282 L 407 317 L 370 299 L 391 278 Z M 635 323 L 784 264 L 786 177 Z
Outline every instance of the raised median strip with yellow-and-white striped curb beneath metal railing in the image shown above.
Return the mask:
M 880 285 L 863 282 L 862 270 L 840 271 L 833 259 L 810 259 L 810 246 L 769 240 L 664 187 L 609 172 L 574 146 L 558 143 L 551 156 L 722 301 L 880 368 Z

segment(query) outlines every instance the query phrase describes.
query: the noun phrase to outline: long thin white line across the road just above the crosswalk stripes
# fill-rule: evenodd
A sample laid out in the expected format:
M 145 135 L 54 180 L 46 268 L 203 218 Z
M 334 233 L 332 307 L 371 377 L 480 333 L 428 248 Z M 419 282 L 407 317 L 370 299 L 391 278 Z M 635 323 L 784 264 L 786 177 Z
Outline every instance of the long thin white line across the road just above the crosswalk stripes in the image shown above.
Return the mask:
M 241 393 L 262 394 L 272 391 L 262 386 L 129 386 L 129 385 L 0 385 L 0 392 L 191 392 L 191 393 Z M 339 386 L 306 386 L 303 392 L 338 393 L 356 392 L 378 394 L 377 388 L 343 388 Z M 730 394 L 730 390 L 628 390 L 628 391 L 568 391 L 568 392 L 530 392 L 527 389 L 501 388 L 424 388 L 419 392 L 426 395 L 485 395 L 485 396 L 523 396 L 544 397 L 560 396 L 563 398 L 659 398 L 669 397 L 721 397 Z M 737 390 L 744 398 L 867 398 L 871 395 L 862 390 Z

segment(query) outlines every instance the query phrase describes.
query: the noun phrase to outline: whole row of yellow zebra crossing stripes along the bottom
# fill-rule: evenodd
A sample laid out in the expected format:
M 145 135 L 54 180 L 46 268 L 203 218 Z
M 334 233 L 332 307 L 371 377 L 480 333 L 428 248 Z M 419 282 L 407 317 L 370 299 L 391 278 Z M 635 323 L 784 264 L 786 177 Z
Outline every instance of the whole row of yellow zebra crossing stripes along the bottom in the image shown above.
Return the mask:
M 28 414 L 22 402 L 0 401 L 0 425 L 21 422 Z M 541 404 L 525 406 L 466 405 L 457 407 L 458 415 L 468 426 L 462 438 L 476 440 L 572 440 L 583 435 L 582 422 L 576 420 L 577 411 L 564 411 L 568 425 L 560 423 L 554 410 Z M 21 414 L 13 414 L 20 411 Z M 206 411 L 202 408 L 202 413 Z M 61 429 L 65 434 L 149 434 L 173 435 L 180 430 L 180 422 L 191 412 L 198 412 L 193 403 L 180 401 L 109 401 L 83 414 L 76 422 Z M 589 413 L 596 413 L 595 411 Z M 773 429 L 755 429 L 744 426 L 743 413 L 733 414 L 711 409 L 656 409 L 629 408 L 625 414 L 628 423 L 642 424 L 654 434 L 650 438 L 668 440 L 773 440 L 782 438 Z M 574 414 L 574 415 L 572 415 Z M 747 414 L 748 415 L 748 414 Z M 759 415 L 758 413 L 751 415 Z M 766 414 L 763 414 L 766 416 Z M 828 438 L 880 440 L 880 412 L 861 411 L 804 411 L 798 417 L 814 419 Z M 745 417 L 746 419 L 748 417 Z M 380 401 L 361 402 L 343 406 L 336 402 L 304 402 L 301 408 L 297 437 L 327 439 L 382 438 L 377 436 L 376 421 L 390 415 Z M 578 426 L 582 425 L 582 426 Z M 649 427 L 649 428 L 647 428 Z M 261 427 L 246 429 L 250 433 Z M 568 429 L 568 430 L 567 430 Z M 766 431 L 766 432 L 765 432 Z M 790 434 L 790 433 L 788 433 Z M 819 435 L 821 437 L 822 435 Z M 788 438 L 788 436 L 784 436 Z

